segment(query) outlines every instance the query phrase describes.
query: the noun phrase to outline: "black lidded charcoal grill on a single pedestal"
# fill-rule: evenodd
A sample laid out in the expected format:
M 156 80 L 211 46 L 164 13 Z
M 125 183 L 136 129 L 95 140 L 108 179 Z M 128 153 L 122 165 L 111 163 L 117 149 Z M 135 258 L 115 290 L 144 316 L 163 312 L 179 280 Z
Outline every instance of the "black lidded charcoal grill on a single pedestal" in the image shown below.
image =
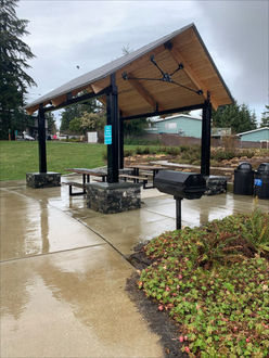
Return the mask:
M 174 195 L 176 200 L 177 229 L 181 229 L 181 200 L 200 199 L 206 191 L 206 180 L 201 174 L 162 170 L 154 178 L 154 187 Z

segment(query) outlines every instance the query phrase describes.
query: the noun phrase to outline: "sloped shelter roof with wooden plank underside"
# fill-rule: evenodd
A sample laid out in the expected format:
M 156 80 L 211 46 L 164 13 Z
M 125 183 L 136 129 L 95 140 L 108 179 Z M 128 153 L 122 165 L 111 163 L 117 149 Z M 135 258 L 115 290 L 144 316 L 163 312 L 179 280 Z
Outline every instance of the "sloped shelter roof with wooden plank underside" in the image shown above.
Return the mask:
M 183 68 L 172 75 L 172 80 L 144 80 L 131 78 L 161 79 L 161 72 L 151 61 L 171 74 L 179 64 Z M 48 94 L 26 105 L 26 111 L 33 114 L 40 104 L 54 107 L 76 97 L 81 91 L 98 94 L 110 86 L 110 76 L 116 74 L 118 87 L 118 107 L 121 116 L 134 116 L 166 111 L 184 106 L 202 104 L 210 92 L 213 107 L 232 103 L 232 97 L 214 64 L 196 27 L 190 24 L 171 33 L 141 49 L 126 54 L 94 71 L 79 76 L 56 88 Z M 123 78 L 126 73 L 127 79 Z M 193 89 L 193 91 L 187 89 Z M 195 91 L 202 90 L 202 94 Z M 105 103 L 105 97 L 100 100 Z

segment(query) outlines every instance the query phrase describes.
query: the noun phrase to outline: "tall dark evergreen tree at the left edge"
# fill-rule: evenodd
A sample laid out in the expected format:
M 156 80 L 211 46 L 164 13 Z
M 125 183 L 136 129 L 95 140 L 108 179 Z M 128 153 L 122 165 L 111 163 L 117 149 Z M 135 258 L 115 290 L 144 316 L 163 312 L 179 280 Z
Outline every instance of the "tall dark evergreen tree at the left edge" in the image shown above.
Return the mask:
M 21 39 L 27 35 L 28 21 L 16 17 L 18 0 L 0 0 L 0 139 L 20 129 L 27 119 L 23 111 L 27 87 L 35 81 L 27 75 L 29 47 Z

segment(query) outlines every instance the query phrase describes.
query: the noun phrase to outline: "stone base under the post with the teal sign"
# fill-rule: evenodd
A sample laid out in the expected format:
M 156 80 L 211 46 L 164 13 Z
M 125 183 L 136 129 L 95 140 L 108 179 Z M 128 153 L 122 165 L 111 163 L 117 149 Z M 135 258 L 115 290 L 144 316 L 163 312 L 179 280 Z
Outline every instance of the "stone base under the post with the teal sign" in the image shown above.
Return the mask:
M 86 186 L 87 206 L 102 214 L 133 210 L 141 207 L 140 184 L 97 182 Z

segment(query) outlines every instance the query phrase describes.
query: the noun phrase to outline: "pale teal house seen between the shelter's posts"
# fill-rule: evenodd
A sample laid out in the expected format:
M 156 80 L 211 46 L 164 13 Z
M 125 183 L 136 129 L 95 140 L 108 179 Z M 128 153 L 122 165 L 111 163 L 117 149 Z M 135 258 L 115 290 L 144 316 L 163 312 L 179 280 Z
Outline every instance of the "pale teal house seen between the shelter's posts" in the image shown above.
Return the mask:
M 201 138 L 202 136 L 202 118 L 190 116 L 187 114 L 177 114 L 164 119 L 153 119 L 148 133 L 162 135 L 179 135 L 180 137 Z

